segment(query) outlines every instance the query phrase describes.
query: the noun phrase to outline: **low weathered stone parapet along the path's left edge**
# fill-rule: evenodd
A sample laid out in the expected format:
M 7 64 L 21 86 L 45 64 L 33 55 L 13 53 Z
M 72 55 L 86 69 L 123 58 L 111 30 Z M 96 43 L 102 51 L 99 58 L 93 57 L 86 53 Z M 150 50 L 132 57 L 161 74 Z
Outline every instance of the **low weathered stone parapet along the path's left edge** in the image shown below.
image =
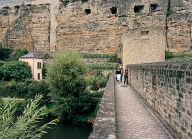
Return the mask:
M 116 139 L 114 76 L 109 78 L 105 93 L 88 139 Z

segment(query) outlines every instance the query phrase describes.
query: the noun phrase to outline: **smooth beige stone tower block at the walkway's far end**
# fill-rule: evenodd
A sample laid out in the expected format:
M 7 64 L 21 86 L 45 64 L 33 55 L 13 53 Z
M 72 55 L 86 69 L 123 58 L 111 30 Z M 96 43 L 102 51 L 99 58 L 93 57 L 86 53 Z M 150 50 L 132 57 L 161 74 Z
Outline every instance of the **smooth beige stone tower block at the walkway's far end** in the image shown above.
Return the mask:
M 123 36 L 123 67 L 165 61 L 166 38 L 162 27 L 127 31 Z

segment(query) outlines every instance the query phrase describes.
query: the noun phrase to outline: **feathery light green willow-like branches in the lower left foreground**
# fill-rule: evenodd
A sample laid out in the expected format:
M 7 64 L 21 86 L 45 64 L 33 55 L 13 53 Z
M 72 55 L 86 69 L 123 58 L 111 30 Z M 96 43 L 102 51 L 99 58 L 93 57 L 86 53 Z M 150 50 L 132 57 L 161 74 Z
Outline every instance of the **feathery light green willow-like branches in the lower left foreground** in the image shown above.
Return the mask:
M 36 96 L 30 100 L 23 113 L 15 118 L 17 101 L 6 99 L 0 102 L 0 137 L 1 139 L 39 139 L 46 133 L 45 129 L 55 124 L 58 120 L 53 120 L 40 127 L 38 123 L 46 115 L 46 107 L 39 107 L 42 96 Z

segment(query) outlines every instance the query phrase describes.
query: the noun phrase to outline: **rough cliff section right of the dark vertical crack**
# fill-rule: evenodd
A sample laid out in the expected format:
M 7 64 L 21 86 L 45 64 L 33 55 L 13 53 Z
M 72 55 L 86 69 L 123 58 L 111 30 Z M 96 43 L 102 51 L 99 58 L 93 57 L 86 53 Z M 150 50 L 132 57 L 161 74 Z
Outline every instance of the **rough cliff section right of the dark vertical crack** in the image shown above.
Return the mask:
M 192 1 L 171 0 L 167 18 L 168 48 L 172 52 L 192 50 Z

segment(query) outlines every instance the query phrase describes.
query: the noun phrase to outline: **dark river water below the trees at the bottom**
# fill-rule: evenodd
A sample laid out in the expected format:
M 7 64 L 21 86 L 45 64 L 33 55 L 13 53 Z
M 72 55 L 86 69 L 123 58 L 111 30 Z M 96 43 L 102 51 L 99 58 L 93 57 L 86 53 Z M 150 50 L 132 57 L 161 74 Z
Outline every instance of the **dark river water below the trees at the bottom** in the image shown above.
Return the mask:
M 48 129 L 47 132 L 42 139 L 87 139 L 92 132 L 92 126 L 57 123 L 52 129 Z

